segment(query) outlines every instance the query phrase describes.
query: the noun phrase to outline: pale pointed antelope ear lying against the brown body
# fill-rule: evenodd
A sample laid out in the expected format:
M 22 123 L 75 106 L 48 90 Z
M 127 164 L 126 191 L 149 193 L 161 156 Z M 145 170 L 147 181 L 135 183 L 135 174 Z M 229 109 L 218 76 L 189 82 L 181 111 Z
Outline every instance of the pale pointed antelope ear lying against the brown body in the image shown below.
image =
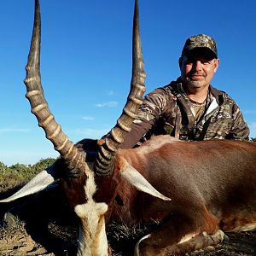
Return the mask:
M 164 201 L 171 201 L 172 199 L 162 195 L 159 191 L 154 189 L 154 187 L 148 183 L 145 177 L 135 168 L 133 168 L 124 158 L 122 159 L 122 169 L 119 171 L 121 177 L 124 177 L 128 183 L 131 183 L 136 189 L 143 191 L 149 195 L 158 197 Z

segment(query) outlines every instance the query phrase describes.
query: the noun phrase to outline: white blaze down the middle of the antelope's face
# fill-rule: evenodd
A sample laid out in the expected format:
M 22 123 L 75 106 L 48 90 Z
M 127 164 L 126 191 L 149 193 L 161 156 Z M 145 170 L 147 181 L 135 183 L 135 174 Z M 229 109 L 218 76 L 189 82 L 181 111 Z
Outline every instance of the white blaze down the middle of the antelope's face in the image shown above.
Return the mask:
M 84 191 L 88 201 L 74 208 L 80 218 L 78 255 L 108 256 L 108 241 L 104 218 L 104 214 L 108 211 L 108 205 L 96 203 L 92 199 L 96 192 L 96 184 L 92 172 L 88 174 Z

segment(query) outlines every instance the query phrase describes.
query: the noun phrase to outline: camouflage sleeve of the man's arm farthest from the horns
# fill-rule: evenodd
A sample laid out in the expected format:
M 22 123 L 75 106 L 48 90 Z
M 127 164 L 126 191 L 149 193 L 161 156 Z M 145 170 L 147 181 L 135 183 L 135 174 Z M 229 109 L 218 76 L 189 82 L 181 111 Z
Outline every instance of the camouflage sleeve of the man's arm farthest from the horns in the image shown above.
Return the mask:
M 240 108 L 238 108 L 236 103 L 233 105 L 232 113 L 233 125 L 230 129 L 228 138 L 236 140 L 248 140 L 250 130 L 242 116 Z

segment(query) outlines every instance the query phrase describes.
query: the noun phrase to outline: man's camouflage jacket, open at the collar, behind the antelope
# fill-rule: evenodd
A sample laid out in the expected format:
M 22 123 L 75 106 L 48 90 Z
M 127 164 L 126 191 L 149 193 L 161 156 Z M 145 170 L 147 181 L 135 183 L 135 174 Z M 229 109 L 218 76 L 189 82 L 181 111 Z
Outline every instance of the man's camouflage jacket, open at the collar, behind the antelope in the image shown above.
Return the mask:
M 141 139 L 160 134 L 183 140 L 248 139 L 249 128 L 236 102 L 211 85 L 209 92 L 206 110 L 198 120 L 180 79 L 149 93 L 121 148 L 132 148 Z

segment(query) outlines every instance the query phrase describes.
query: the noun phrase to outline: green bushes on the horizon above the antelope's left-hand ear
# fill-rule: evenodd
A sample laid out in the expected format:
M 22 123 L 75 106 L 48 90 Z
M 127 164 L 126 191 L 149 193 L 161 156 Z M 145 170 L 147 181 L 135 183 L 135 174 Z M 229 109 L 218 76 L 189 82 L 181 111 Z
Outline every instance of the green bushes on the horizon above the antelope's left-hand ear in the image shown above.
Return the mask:
M 55 159 L 47 158 L 39 160 L 34 165 L 15 164 L 5 166 L 0 161 L 0 193 L 27 183 L 32 177 L 51 165 Z

